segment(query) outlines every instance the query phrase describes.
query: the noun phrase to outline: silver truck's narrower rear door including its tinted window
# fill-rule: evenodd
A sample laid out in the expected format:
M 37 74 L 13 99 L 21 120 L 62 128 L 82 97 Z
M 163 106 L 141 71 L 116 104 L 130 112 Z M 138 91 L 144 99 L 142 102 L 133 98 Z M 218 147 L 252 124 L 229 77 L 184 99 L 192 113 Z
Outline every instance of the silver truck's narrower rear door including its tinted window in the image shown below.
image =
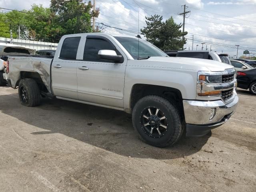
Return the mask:
M 81 35 L 68 36 L 60 41 L 58 56 L 52 63 L 52 89 L 55 96 L 78 99 L 76 68 Z

